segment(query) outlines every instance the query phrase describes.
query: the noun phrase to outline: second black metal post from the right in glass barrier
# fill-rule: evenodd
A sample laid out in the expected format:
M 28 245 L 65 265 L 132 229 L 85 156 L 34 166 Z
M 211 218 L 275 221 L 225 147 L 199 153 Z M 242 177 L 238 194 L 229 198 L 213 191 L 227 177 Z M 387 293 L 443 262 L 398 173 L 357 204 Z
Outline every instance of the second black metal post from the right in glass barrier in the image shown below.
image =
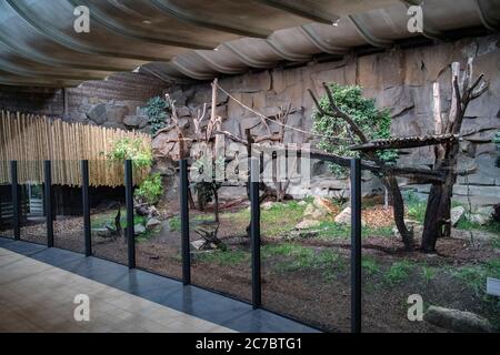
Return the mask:
M 261 305 L 260 275 L 260 203 L 259 203 L 259 160 L 250 160 L 250 243 L 252 254 L 252 306 Z

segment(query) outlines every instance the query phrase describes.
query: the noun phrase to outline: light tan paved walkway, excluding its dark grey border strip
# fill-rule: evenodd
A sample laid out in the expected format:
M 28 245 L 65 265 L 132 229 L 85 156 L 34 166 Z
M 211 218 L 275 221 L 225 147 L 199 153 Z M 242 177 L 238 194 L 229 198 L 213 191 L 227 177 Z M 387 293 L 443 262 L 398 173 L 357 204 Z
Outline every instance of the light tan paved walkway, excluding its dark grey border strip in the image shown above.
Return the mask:
M 77 295 L 89 298 L 89 321 Z M 0 248 L 0 332 L 232 332 L 61 268 Z

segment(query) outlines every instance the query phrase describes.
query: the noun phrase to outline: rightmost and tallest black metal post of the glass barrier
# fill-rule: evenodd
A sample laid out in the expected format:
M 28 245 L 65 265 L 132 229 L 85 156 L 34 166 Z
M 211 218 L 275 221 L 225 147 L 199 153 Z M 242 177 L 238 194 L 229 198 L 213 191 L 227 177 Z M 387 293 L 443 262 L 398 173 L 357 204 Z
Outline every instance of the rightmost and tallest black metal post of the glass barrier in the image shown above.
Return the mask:
M 351 159 L 351 332 L 361 333 L 361 161 Z

